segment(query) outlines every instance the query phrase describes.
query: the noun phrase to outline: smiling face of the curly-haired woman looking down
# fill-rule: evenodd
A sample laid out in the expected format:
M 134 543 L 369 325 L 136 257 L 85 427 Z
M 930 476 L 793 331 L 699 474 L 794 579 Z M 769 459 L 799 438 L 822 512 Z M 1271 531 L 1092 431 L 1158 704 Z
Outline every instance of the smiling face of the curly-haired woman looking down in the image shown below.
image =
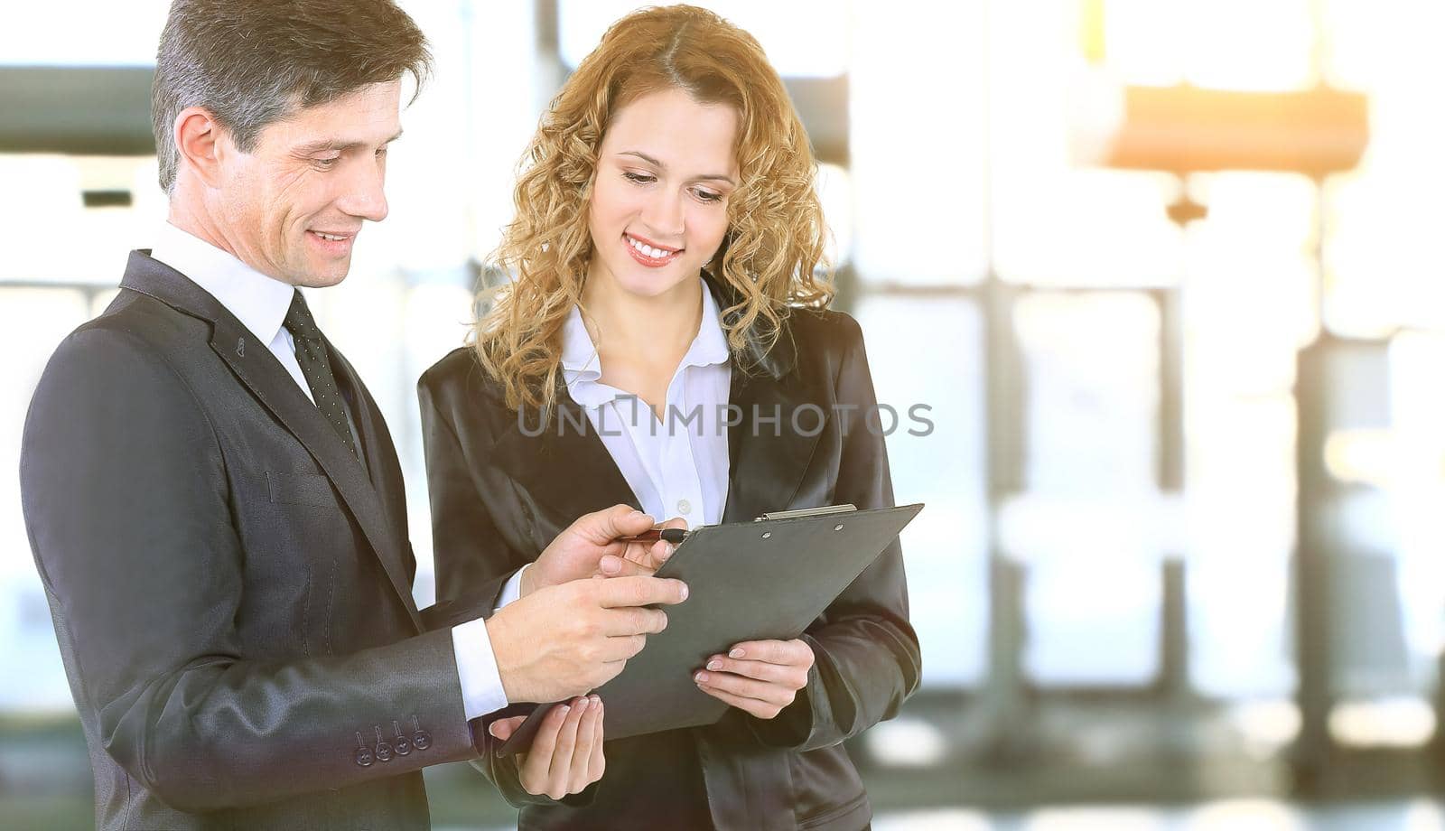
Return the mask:
M 617 111 L 592 184 L 588 280 L 647 298 L 686 290 L 727 233 L 737 120 L 733 107 L 699 104 L 682 90 Z

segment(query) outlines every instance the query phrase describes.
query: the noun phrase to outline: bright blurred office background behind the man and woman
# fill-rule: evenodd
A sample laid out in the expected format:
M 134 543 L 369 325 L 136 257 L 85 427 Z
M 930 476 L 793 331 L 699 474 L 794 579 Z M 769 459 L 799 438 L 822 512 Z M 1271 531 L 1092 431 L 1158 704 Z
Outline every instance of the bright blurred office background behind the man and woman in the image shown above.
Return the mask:
M 1445 828 L 1445 4 L 704 4 L 808 124 L 894 488 L 929 506 L 923 686 L 850 746 L 876 827 Z M 634 3 L 403 6 L 436 74 L 392 217 L 312 305 L 392 425 L 428 604 L 415 379 L 540 108 Z M 52 347 L 165 217 L 165 9 L 0 26 L 0 827 L 91 822 L 14 471 Z M 468 767 L 428 778 L 438 827 L 512 821 Z

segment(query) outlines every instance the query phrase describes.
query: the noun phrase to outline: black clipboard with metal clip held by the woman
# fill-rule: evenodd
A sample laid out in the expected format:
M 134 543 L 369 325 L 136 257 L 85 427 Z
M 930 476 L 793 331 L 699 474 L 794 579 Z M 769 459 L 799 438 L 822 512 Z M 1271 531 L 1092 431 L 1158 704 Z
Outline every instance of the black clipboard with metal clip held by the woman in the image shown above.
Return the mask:
M 802 634 L 920 510 L 829 506 L 692 530 L 657 569 L 685 581 L 688 600 L 666 607 L 668 629 L 595 691 L 605 740 L 715 723 L 728 705 L 698 689 L 692 672 L 737 642 Z M 497 756 L 530 747 L 552 707 L 533 710 Z

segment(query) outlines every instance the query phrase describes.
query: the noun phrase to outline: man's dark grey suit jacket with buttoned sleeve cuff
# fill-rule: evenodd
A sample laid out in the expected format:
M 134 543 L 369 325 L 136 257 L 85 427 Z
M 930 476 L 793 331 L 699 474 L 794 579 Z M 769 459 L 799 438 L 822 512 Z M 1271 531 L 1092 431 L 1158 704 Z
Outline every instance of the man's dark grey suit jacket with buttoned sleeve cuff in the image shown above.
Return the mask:
M 426 828 L 420 769 L 475 756 L 390 434 L 328 350 L 364 465 L 143 251 L 40 379 L 25 517 L 101 828 Z

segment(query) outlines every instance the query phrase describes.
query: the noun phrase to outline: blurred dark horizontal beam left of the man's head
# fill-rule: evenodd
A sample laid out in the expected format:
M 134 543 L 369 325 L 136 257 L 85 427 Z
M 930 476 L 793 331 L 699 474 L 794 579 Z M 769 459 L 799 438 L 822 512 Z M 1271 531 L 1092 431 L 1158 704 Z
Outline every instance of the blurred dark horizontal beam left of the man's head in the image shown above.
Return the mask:
M 150 156 L 150 66 L 0 66 L 0 153 Z

